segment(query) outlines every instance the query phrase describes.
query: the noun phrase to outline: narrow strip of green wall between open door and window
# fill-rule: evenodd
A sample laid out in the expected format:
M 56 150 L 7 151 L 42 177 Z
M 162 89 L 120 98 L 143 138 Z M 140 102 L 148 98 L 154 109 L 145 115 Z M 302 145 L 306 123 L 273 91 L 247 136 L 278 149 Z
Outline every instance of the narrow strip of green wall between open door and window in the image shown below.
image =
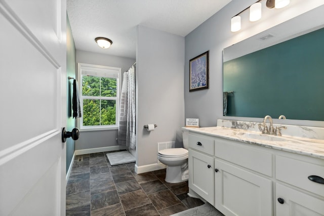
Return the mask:
M 67 14 L 66 14 L 67 16 Z M 66 48 L 66 76 L 76 77 L 76 51 L 74 45 L 74 39 L 71 31 L 70 21 L 67 16 L 67 48 Z M 66 116 L 66 131 L 72 131 L 75 127 L 75 119 L 72 118 L 72 95 L 73 95 L 73 79 L 67 79 L 66 84 L 66 105 L 67 105 L 67 116 Z M 71 164 L 73 154 L 75 150 L 74 140 L 66 139 L 66 172 Z

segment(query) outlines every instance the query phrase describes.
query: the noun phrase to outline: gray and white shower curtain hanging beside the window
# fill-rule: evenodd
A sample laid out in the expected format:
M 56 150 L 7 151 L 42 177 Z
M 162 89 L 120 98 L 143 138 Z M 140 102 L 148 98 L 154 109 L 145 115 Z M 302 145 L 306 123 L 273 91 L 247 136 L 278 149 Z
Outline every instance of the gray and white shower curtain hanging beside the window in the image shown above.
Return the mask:
M 119 103 L 118 144 L 134 149 L 135 145 L 135 64 L 124 72 Z

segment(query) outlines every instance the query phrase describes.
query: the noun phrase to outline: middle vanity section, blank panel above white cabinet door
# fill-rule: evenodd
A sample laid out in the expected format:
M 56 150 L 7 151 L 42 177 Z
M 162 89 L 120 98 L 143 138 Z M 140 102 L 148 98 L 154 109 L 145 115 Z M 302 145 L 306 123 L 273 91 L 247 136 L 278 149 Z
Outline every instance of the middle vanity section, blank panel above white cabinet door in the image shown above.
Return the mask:
M 215 138 L 215 156 L 215 207 L 226 216 L 271 216 L 272 181 L 261 174 L 272 176 L 272 155 Z

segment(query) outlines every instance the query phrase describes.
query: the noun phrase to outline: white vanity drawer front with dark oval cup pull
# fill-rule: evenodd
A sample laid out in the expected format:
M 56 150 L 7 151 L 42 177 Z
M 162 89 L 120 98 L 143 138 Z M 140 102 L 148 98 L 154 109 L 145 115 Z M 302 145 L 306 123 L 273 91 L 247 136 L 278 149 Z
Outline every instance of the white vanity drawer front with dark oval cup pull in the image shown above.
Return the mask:
M 324 162 L 320 164 L 277 155 L 275 157 L 275 176 L 277 180 L 324 196 L 324 184 L 308 179 L 309 176 L 324 178 Z

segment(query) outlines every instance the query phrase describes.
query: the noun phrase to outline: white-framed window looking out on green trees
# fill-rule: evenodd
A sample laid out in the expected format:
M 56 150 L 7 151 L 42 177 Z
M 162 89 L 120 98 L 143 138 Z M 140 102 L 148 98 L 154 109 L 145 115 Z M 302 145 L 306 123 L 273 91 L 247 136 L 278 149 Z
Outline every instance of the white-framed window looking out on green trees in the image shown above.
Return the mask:
M 78 63 L 78 84 L 83 131 L 116 129 L 121 68 Z

